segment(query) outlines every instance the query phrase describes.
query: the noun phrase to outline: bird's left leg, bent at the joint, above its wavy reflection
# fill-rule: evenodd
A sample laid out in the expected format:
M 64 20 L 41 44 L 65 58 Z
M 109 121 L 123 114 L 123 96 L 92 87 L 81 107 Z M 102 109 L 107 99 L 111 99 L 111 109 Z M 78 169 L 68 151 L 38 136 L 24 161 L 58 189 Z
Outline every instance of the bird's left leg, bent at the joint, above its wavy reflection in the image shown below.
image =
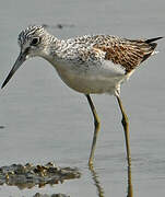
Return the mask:
M 98 135 L 98 131 L 99 131 L 99 127 L 101 127 L 101 123 L 99 123 L 99 118 L 97 116 L 97 113 L 96 113 L 96 109 L 95 109 L 95 106 L 91 100 L 91 96 L 90 94 L 86 94 L 85 95 L 87 97 L 87 101 L 89 101 L 89 104 L 90 104 L 90 107 L 91 107 L 91 111 L 92 111 L 92 114 L 93 114 L 93 117 L 94 117 L 94 136 L 93 136 L 93 142 L 92 142 L 92 148 L 91 148 L 91 154 L 90 154 L 90 159 L 89 159 L 89 165 L 92 165 L 93 164 L 93 159 L 94 159 L 94 151 L 95 151 L 95 147 L 96 147 L 96 140 L 97 140 L 97 135 Z

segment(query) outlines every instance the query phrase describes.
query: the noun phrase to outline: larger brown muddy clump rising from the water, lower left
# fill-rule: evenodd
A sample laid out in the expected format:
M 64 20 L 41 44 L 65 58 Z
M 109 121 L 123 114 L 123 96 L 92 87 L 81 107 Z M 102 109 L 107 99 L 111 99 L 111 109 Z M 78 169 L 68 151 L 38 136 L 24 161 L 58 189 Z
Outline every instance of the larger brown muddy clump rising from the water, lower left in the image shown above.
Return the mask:
M 0 167 L 0 185 L 17 186 L 20 189 L 36 185 L 44 187 L 46 184 L 63 183 L 66 179 L 80 178 L 80 176 L 78 169 L 59 167 L 52 162 L 45 165 L 26 163 Z

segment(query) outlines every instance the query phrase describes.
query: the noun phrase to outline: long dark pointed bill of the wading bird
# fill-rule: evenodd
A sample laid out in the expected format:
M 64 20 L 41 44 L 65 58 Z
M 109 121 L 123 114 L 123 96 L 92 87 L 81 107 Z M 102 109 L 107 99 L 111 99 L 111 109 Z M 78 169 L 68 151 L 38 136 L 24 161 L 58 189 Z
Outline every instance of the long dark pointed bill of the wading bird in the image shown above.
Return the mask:
M 4 80 L 1 89 L 3 89 L 3 86 L 9 82 L 9 80 L 12 78 L 12 76 L 16 72 L 16 70 L 21 67 L 21 65 L 26 60 L 26 54 L 22 54 L 20 53 L 13 68 L 11 69 L 11 71 L 9 72 L 7 79 Z

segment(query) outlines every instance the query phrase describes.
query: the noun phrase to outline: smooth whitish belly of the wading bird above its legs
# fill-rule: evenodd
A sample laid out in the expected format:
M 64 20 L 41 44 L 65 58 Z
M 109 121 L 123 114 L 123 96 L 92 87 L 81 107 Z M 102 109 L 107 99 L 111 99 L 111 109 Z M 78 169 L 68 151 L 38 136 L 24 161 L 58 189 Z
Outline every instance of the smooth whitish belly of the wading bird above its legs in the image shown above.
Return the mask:
M 84 94 L 115 94 L 121 81 L 126 79 L 123 71 L 120 73 L 116 70 L 105 68 L 79 70 L 67 67 L 56 67 L 62 81 L 71 89 Z M 121 70 L 120 70 L 121 71 Z

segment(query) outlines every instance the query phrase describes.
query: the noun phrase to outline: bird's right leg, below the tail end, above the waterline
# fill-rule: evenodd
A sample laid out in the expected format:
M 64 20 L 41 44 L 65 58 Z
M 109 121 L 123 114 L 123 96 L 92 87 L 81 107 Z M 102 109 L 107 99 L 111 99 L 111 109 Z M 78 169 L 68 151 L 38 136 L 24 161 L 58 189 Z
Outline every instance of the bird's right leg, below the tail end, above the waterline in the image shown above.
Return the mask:
M 128 160 L 128 166 L 131 165 L 131 155 L 130 155 L 130 146 L 129 146 L 129 123 L 128 123 L 128 117 L 127 114 L 125 113 L 123 106 L 122 106 L 122 102 L 119 97 L 119 95 L 116 95 L 121 114 L 122 114 L 122 120 L 121 124 L 123 126 L 123 130 L 125 130 L 125 140 L 126 140 L 126 148 L 127 148 L 127 160 Z

